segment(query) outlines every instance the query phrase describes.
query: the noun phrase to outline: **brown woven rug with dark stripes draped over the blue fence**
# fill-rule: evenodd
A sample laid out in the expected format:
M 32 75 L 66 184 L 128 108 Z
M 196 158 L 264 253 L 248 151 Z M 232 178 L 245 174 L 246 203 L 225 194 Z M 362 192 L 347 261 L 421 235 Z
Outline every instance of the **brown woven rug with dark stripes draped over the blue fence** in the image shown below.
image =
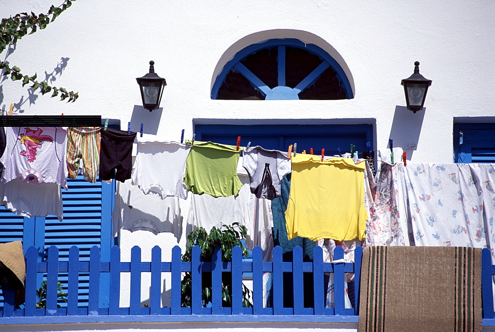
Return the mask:
M 481 332 L 481 249 L 369 247 L 359 332 Z

